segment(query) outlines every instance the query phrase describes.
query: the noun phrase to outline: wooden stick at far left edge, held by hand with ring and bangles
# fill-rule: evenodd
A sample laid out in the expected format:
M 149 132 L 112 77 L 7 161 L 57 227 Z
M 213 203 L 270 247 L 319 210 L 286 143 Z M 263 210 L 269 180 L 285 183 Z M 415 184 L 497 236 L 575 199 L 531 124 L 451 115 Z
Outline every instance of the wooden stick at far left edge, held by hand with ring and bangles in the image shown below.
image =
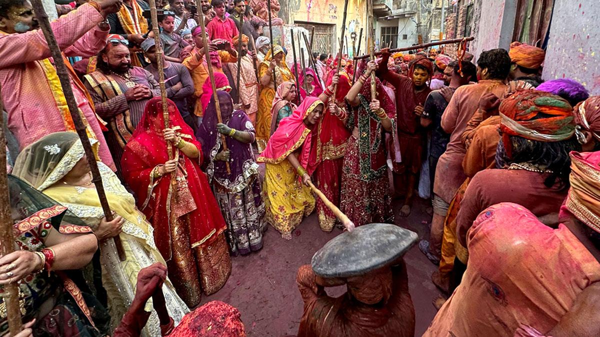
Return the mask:
M 1 89 L 0 89 L 0 92 Z M 4 116 L 0 95 L 0 144 L 6 144 L 4 136 Z M 0 167 L 6 167 L 6 151 L 0 151 Z M 10 215 L 10 195 L 8 194 L 8 177 L 6 170 L 0 172 L 0 255 L 6 256 L 14 251 L 13 219 Z M 19 280 L 17 280 L 19 281 Z M 4 303 L 7 309 L 7 320 L 10 335 L 21 331 L 21 311 L 19 309 L 19 286 L 16 282 L 4 285 Z

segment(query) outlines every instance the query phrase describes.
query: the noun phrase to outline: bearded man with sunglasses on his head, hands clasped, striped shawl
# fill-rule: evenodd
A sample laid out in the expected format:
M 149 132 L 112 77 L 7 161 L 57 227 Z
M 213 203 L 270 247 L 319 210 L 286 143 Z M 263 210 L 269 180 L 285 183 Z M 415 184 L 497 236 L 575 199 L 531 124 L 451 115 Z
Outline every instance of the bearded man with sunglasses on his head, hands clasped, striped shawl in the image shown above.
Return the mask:
M 142 119 L 148 100 L 160 95 L 154 76 L 131 65 L 128 45 L 121 35 L 110 34 L 106 47 L 98 53 L 98 70 L 85 76 L 96 113 L 108 122 L 106 142 L 119 177 L 123 148 Z

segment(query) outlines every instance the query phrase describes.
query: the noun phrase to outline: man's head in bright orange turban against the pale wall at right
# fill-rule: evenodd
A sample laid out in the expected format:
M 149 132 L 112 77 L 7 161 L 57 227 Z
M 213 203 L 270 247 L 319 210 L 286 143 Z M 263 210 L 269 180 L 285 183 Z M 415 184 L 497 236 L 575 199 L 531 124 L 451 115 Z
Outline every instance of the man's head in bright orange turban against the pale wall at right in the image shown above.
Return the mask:
M 511 80 L 524 80 L 533 86 L 542 83 L 539 74 L 542 72 L 542 64 L 546 56 L 544 49 L 515 41 L 511 43 L 508 56 L 511 57 L 512 62 L 509 77 Z

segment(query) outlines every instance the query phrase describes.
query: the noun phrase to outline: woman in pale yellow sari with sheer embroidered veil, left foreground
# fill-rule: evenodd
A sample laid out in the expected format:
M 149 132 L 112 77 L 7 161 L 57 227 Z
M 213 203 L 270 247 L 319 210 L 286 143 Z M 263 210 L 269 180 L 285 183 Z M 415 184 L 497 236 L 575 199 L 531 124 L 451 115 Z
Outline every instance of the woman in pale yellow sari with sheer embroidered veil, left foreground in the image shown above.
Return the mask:
M 94 149 L 97 141 L 91 140 Z M 115 212 L 115 219 L 107 222 L 100 206 L 83 146 L 76 133 L 53 133 L 23 149 L 17 157 L 13 174 L 28 182 L 38 191 L 68 207 L 83 219 L 100 240 L 102 281 L 109 298 L 109 310 L 114 329 L 133 301 L 137 273 L 151 264 L 165 264 L 154 244 L 152 226 L 136 208 L 136 202 L 121 181 L 106 165 L 98 161 L 104 191 Z M 125 250 L 126 260 L 119 261 L 114 240 L 118 235 Z M 175 324 L 189 311 L 175 288 L 167 281 L 163 285 L 166 307 Z M 160 336 L 158 315 L 152 311 L 143 336 Z

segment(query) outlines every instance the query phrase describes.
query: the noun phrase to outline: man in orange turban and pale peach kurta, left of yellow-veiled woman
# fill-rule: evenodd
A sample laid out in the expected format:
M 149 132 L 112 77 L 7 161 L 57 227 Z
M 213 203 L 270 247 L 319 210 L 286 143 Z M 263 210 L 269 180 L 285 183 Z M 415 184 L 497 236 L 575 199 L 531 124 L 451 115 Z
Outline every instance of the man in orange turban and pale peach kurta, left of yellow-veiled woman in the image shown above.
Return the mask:
M 238 50 L 239 35 L 233 37 L 233 47 Z M 248 50 L 248 37 L 242 35 L 242 55 L 241 70 L 239 71 L 238 103 L 242 104 L 241 109 L 246 112 L 248 118 L 254 124 L 256 121 L 256 112 L 258 107 L 259 82 L 256 79 L 253 62 L 256 61 L 256 53 Z M 227 63 L 233 77 L 233 85 L 238 85 L 238 62 Z

